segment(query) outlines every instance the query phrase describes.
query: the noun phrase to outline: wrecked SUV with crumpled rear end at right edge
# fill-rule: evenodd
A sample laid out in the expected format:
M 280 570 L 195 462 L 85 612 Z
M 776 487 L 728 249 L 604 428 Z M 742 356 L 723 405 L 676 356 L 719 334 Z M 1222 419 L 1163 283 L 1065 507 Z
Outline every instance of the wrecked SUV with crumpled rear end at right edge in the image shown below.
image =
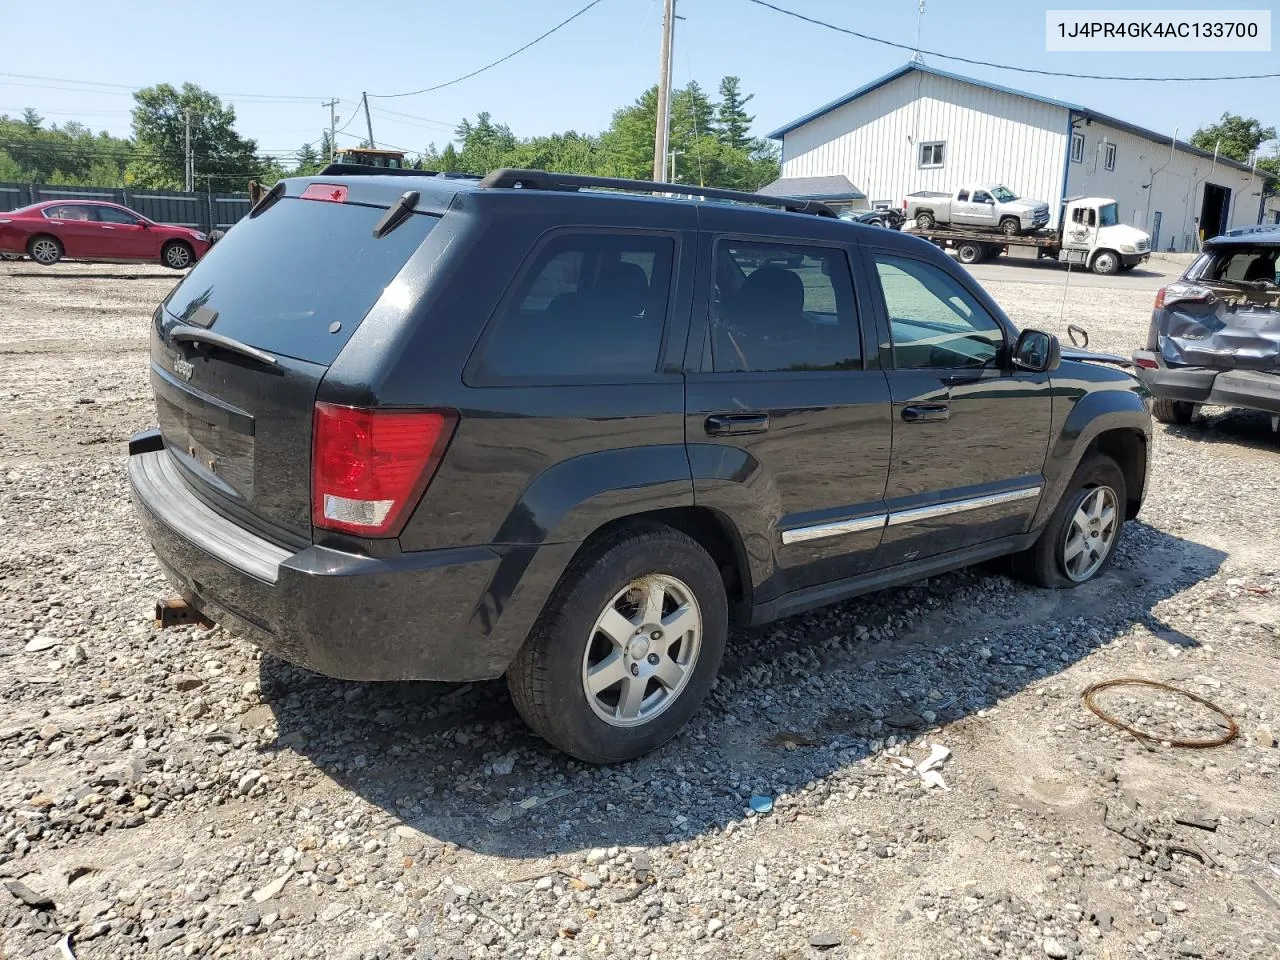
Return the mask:
M 1189 424 L 1210 403 L 1261 410 L 1280 431 L 1280 225 L 1208 241 L 1156 294 L 1133 362 L 1161 422 Z

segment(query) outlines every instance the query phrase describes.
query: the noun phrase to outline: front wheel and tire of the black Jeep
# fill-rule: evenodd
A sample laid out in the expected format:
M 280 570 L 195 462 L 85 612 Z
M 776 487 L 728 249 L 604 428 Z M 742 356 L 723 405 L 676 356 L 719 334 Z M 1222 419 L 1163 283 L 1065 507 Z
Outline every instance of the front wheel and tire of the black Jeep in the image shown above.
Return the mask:
M 1105 573 L 1120 544 L 1125 495 L 1120 466 L 1103 453 L 1087 454 L 1039 539 L 1014 556 L 1014 573 L 1055 589 Z

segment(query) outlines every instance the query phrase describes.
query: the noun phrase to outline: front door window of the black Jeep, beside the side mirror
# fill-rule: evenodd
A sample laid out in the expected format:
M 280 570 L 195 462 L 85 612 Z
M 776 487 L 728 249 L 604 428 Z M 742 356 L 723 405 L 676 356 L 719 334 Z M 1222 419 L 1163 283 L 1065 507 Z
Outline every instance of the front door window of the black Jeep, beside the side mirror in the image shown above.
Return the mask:
M 959 283 L 910 257 L 876 255 L 899 370 L 973 369 L 1005 343 L 1000 323 Z

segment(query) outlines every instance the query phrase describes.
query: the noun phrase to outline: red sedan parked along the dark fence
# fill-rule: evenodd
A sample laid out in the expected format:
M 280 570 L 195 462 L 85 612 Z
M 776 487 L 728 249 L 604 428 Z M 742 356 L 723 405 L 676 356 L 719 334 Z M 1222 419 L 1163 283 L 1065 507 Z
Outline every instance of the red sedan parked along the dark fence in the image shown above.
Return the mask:
M 90 200 L 46 200 L 0 212 L 0 253 L 26 253 L 52 266 L 63 257 L 159 262 L 186 270 L 209 251 L 209 237 Z

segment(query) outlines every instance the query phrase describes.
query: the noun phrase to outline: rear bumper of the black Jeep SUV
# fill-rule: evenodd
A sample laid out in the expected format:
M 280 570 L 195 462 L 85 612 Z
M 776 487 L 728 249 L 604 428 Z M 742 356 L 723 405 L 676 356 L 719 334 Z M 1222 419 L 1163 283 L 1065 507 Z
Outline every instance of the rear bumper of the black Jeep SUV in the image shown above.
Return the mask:
M 294 553 L 211 509 L 147 436 L 131 443 L 134 508 L 165 576 L 207 618 L 343 680 L 466 681 L 506 669 L 511 644 L 471 628 L 497 550 Z

